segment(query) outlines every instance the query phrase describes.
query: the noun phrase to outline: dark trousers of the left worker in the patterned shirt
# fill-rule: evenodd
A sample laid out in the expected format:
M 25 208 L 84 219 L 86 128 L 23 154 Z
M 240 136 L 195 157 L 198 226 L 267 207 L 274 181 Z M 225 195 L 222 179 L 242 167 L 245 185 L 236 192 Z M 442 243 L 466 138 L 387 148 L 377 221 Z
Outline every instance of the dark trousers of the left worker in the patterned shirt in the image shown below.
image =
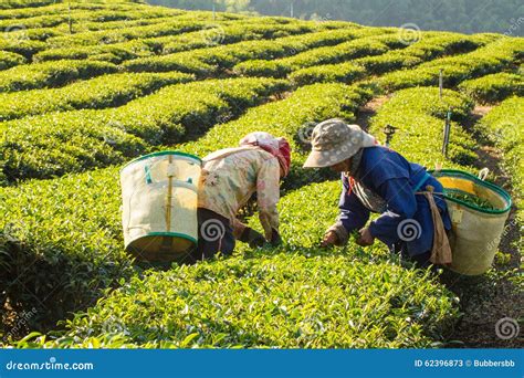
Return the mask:
M 198 209 L 197 217 L 198 246 L 191 253 L 192 260 L 210 259 L 218 252 L 232 254 L 235 240 L 229 219 L 202 208 Z

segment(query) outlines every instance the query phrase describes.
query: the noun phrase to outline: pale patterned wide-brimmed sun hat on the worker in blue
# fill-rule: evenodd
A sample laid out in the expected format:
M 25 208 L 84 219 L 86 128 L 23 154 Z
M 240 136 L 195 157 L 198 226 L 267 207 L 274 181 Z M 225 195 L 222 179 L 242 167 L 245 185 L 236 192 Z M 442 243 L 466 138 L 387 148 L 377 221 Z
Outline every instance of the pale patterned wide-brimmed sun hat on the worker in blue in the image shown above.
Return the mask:
M 376 139 L 358 125 L 338 118 L 315 126 L 311 137 L 312 151 L 304 168 L 331 167 L 354 156 L 360 148 L 371 147 Z

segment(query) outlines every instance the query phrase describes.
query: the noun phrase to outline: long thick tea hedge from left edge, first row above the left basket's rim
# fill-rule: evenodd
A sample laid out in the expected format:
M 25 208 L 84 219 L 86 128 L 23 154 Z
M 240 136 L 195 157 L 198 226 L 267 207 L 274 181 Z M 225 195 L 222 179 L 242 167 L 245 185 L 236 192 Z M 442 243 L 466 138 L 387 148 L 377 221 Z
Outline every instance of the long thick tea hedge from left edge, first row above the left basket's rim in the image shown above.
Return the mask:
M 150 146 L 199 135 L 285 90 L 281 81 L 238 78 L 164 87 L 103 111 L 51 113 L 0 124 L 3 174 L 9 181 L 50 178 L 123 162 Z

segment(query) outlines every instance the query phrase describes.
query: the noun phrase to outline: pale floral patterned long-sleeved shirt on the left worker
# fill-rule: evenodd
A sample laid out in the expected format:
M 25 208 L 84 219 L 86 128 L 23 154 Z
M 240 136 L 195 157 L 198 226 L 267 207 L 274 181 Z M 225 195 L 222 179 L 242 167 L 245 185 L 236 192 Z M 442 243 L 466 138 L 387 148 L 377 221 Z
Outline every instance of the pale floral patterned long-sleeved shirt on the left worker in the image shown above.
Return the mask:
M 265 239 L 271 240 L 272 229 L 279 231 L 279 160 L 260 148 L 252 148 L 205 161 L 199 182 L 198 207 L 228 218 L 237 238 L 245 228 L 245 224 L 237 219 L 237 213 L 254 192 Z

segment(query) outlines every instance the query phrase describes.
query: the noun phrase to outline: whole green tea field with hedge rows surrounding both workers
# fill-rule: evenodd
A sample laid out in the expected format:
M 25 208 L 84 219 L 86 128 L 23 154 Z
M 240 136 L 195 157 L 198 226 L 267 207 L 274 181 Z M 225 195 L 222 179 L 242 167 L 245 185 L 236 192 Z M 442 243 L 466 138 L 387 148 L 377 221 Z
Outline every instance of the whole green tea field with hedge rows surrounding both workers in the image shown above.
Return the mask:
M 182 11 L 139 2 L 0 4 L 0 344 L 25 348 L 515 347 L 522 319 L 524 40 Z M 442 73 L 443 91 L 439 93 Z M 451 111 L 449 153 L 441 154 Z M 340 185 L 304 170 L 340 117 L 432 169 L 514 200 L 493 267 L 421 271 L 378 242 L 321 249 Z M 124 251 L 119 168 L 286 137 L 283 245 L 195 265 Z M 256 209 L 244 209 L 253 228 Z

